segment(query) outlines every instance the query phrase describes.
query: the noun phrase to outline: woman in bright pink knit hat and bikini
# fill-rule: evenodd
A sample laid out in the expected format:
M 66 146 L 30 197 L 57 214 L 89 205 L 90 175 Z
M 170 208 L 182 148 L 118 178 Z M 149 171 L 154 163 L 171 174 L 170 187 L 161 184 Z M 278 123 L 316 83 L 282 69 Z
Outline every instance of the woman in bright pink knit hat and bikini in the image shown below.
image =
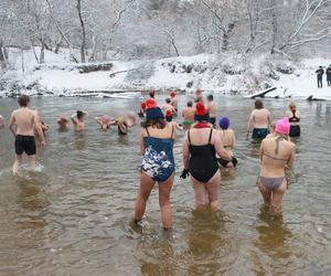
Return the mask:
M 288 140 L 290 124 L 287 117 L 276 123 L 275 136 L 260 145 L 261 167 L 258 188 L 266 205 L 275 214 L 281 211 L 282 195 L 287 189 L 286 171 L 293 166 L 296 146 Z

